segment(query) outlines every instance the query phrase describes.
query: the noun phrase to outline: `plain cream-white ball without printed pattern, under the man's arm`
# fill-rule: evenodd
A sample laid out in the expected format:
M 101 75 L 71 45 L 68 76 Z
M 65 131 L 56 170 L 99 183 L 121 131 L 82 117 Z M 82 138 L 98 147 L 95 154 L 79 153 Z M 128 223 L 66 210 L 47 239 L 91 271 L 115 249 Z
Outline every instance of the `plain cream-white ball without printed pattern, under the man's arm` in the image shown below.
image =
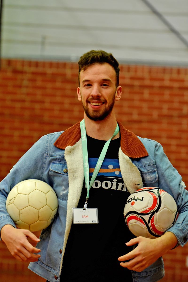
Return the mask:
M 50 225 L 57 212 L 57 196 L 47 183 L 29 179 L 12 188 L 6 210 L 21 229 L 39 231 Z

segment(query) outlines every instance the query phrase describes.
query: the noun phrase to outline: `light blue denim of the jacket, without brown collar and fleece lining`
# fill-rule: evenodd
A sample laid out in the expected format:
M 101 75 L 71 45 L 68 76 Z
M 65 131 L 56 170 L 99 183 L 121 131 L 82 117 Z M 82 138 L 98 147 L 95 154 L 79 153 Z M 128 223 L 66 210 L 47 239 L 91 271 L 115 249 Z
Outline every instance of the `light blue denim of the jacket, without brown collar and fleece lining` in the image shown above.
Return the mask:
M 55 190 L 59 205 L 56 218 L 48 228 L 41 232 L 41 241 L 37 244 L 37 248 L 41 249 L 40 259 L 29 265 L 30 270 L 50 282 L 59 281 L 61 274 L 61 250 L 65 247 L 64 235 L 69 190 L 68 173 L 71 171 L 71 168 L 67 166 L 64 150 L 54 146 L 54 142 L 61 133 L 51 133 L 40 138 L 0 184 L 0 230 L 5 224 L 15 227 L 6 211 L 5 203 L 10 189 L 18 182 L 26 179 L 39 179 L 47 182 Z M 185 190 L 181 176 L 164 154 L 162 146 L 156 141 L 138 138 L 145 146 L 149 156 L 131 159 L 132 163 L 141 173 L 143 186 L 160 187 L 175 199 L 179 217 L 169 231 L 176 235 L 179 244 L 183 246 L 188 239 L 188 191 Z M 132 271 L 132 276 L 134 282 L 160 280 L 164 276 L 162 258 L 142 272 Z

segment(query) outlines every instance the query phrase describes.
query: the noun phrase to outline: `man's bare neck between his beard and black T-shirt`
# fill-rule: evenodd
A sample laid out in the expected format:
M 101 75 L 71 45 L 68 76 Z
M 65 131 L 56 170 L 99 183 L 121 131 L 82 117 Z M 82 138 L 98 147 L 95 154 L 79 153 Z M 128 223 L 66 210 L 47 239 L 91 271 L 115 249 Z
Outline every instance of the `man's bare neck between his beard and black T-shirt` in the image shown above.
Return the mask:
M 98 140 L 109 140 L 117 126 L 115 114 L 100 121 L 90 120 L 85 114 L 84 120 L 87 135 Z M 112 140 L 118 137 L 120 137 L 120 132 Z

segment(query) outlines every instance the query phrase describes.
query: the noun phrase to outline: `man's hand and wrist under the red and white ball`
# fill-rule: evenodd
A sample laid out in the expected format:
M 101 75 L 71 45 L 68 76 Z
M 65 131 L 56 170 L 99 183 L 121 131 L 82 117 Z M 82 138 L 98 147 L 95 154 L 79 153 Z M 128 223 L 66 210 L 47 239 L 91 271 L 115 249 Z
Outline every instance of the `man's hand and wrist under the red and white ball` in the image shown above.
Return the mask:
M 154 263 L 159 257 L 164 255 L 168 250 L 174 248 L 178 243 L 176 236 L 172 232 L 166 232 L 159 238 L 149 239 L 145 237 L 137 237 L 131 239 L 127 246 L 138 246 L 126 255 L 118 258 L 119 261 L 127 261 L 120 263 L 121 266 L 130 270 L 142 271 L 149 265 Z

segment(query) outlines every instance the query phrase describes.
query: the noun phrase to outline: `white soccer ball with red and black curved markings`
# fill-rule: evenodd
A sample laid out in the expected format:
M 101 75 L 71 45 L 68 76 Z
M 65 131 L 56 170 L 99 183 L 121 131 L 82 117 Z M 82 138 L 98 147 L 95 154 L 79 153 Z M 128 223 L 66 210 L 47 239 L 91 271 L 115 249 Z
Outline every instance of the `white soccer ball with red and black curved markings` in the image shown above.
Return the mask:
M 178 218 L 173 197 L 156 187 L 135 191 L 127 199 L 123 213 L 129 230 L 137 237 L 160 237 Z

